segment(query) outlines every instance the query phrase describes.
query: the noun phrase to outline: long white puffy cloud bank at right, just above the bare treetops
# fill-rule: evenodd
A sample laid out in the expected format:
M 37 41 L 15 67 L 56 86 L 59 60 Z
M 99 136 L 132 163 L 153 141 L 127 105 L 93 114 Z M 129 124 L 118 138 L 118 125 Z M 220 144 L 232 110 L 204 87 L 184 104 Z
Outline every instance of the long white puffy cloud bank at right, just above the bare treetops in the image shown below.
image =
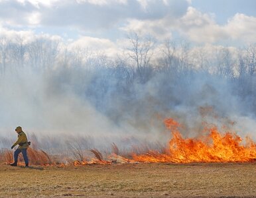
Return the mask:
M 215 16 L 202 13 L 194 7 L 188 7 L 186 15 L 174 18 L 166 15 L 155 20 L 129 19 L 120 28 L 125 31 L 136 31 L 151 34 L 158 40 L 171 38 L 172 32 L 179 32 L 182 38 L 195 43 L 209 44 L 250 44 L 256 42 L 256 18 L 237 13 L 220 25 Z

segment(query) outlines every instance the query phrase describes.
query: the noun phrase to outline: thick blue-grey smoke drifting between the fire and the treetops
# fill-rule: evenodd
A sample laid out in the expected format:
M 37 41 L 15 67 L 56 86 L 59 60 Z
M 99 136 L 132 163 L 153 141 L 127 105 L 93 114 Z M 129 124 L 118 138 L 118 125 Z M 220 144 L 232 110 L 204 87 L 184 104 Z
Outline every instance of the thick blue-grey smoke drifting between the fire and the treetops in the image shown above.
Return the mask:
M 80 59 L 54 41 L 27 44 L 23 53 L 14 50 L 21 49 L 18 44 L 5 47 L 0 57 L 1 147 L 15 139 L 17 125 L 38 147 L 62 147 L 72 140 L 87 149 L 112 142 L 122 147 L 165 143 L 170 137 L 166 117 L 185 126 L 184 137 L 198 135 L 202 121 L 208 121 L 255 139 L 251 69 L 256 65 L 249 65 L 248 50 L 239 57 L 218 49 L 200 65 L 194 61 L 198 54 L 180 46 L 171 57 L 155 54 L 154 62 L 138 65 L 103 55 Z

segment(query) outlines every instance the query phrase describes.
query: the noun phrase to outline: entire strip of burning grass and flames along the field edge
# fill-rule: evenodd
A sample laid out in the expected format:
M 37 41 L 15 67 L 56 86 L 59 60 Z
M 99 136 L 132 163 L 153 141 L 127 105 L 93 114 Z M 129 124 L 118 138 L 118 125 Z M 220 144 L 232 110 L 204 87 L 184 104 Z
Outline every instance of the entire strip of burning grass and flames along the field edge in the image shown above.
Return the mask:
M 112 153 L 103 154 L 97 149 L 88 150 L 94 156 L 85 156 L 85 152 L 77 143 L 72 147 L 75 160 L 70 158 L 67 162 L 56 162 L 43 150 L 28 149 L 28 155 L 31 165 L 55 165 L 62 166 L 74 165 L 82 166 L 87 164 L 113 164 L 113 163 L 192 163 L 192 162 L 255 162 L 256 161 L 256 144 L 246 138 L 243 142 L 241 137 L 235 133 L 226 131 L 220 133 L 216 126 L 205 127 L 201 137 L 196 139 L 184 139 L 179 129 L 182 125 L 174 119 L 164 121 L 166 128 L 170 130 L 172 138 L 167 147 L 160 147 L 160 150 L 146 149 L 147 152 L 141 152 L 139 147 L 133 146 L 126 157 L 122 156 L 117 145 L 113 143 Z M 107 152 L 106 152 L 107 153 Z M 90 159 L 90 160 L 88 160 Z M 0 160 L 7 164 L 13 162 L 13 152 L 7 149 L 1 151 Z M 19 162 L 22 163 L 22 156 L 19 156 Z

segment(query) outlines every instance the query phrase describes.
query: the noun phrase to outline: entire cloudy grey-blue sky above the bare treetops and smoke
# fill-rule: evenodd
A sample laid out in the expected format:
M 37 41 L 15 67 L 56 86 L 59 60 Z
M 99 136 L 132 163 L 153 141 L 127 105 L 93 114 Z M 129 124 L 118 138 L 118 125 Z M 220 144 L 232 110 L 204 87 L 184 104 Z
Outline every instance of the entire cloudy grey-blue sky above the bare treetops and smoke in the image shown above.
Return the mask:
M 0 0 L 0 36 L 34 35 L 116 48 L 130 31 L 157 40 L 256 42 L 254 0 Z

